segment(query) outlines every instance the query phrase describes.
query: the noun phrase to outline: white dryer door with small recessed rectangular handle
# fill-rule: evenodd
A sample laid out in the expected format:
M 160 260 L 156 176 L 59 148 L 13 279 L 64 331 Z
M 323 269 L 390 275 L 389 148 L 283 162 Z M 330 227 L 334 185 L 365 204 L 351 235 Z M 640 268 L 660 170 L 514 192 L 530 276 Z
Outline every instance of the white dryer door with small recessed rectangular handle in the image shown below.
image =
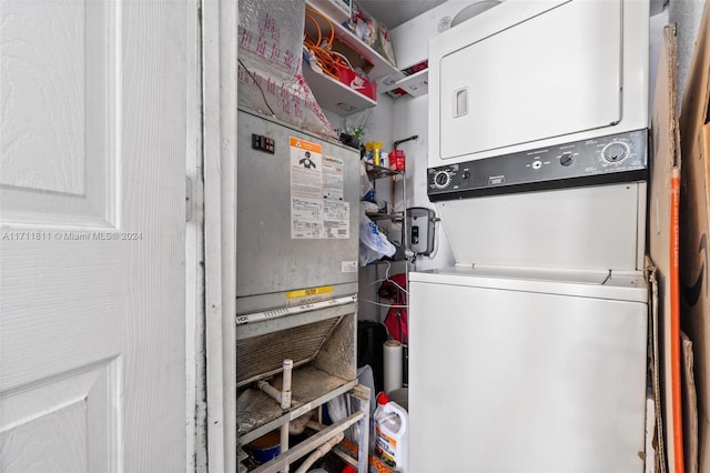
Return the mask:
M 505 14 L 506 8 L 486 13 Z M 458 28 L 478 31 L 473 22 L 484 17 Z M 571 1 L 474 36 L 445 54 L 438 70 L 440 158 L 619 122 L 621 33 L 621 0 Z

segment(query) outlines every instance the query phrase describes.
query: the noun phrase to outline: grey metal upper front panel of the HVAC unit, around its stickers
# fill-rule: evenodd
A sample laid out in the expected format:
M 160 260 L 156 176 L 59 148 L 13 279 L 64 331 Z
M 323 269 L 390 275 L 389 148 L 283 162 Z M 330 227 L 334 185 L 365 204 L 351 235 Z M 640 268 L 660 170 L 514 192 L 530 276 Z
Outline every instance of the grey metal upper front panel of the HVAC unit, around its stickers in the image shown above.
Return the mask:
M 247 112 L 240 111 L 239 121 L 237 298 L 270 295 L 261 306 L 237 301 L 237 312 L 285 306 L 285 294 L 278 294 L 284 291 L 342 285 L 346 293 L 355 292 L 357 272 L 344 270 L 343 263 L 357 261 L 359 154 L 352 148 Z M 273 139 L 274 154 L 253 150 L 252 134 Z M 338 229 L 347 230 L 346 238 L 292 236 L 292 197 L 296 195 L 291 181 L 292 137 L 321 145 L 323 157 L 342 160 L 339 173 L 334 175 L 342 180 L 338 203 L 347 205 L 346 227 Z M 322 172 L 321 179 L 327 179 L 327 174 Z M 337 292 L 334 289 L 333 295 Z

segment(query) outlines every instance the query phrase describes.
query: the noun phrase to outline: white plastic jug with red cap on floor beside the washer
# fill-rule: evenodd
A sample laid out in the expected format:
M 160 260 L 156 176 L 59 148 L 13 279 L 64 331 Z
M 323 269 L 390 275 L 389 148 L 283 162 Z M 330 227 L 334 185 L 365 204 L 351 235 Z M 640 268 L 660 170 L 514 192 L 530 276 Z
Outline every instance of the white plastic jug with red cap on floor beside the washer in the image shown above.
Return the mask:
M 379 393 L 375 410 L 375 452 L 398 472 L 407 471 L 409 417 L 407 411 Z

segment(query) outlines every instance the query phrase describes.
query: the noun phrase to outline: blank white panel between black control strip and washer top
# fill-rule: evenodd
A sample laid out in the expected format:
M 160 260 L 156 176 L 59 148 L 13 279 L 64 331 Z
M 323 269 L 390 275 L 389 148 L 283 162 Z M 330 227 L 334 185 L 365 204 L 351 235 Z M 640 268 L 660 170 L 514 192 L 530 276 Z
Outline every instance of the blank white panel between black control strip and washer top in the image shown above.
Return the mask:
M 646 184 L 613 184 L 437 203 L 457 263 L 640 269 Z M 604 229 L 604 231 L 601 231 Z

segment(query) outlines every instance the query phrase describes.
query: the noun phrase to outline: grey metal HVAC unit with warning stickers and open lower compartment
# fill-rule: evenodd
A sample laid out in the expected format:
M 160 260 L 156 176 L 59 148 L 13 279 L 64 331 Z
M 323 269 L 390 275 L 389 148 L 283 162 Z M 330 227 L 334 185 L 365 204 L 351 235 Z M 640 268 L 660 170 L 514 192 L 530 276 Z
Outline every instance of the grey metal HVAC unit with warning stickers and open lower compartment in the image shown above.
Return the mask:
M 255 471 L 278 471 L 358 423 L 364 473 L 369 393 L 358 385 L 355 353 L 359 155 L 246 111 L 239 123 L 237 455 L 288 423 L 303 429 L 304 414 L 347 394 L 352 415 Z M 264 383 L 282 390 L 284 378 L 292 400 L 282 407 Z

